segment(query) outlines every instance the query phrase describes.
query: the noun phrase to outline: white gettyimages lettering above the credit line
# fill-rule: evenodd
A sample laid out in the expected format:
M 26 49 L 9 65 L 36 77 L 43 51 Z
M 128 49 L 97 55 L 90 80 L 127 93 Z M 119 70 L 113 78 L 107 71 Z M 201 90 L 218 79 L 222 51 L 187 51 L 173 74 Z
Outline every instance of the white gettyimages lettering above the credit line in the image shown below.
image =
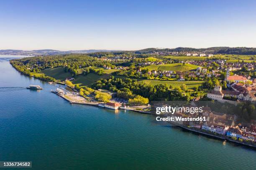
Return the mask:
M 161 113 L 171 113 L 174 114 L 175 112 L 186 112 L 190 114 L 194 113 L 202 113 L 203 107 L 172 107 L 172 106 L 165 106 L 165 107 L 156 107 L 156 114 L 159 115 Z

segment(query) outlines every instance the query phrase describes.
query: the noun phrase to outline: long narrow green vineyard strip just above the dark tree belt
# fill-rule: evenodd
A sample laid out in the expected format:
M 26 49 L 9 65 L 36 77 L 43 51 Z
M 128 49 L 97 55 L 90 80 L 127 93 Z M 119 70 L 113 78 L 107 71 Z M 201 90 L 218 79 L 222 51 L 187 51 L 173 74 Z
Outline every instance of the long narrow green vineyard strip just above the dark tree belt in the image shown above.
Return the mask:
M 187 85 L 188 88 L 198 87 L 203 84 L 205 81 L 161 81 L 161 80 L 138 80 L 138 82 L 144 82 L 148 85 L 159 85 L 167 84 L 172 85 L 172 87 L 180 87 L 182 84 Z

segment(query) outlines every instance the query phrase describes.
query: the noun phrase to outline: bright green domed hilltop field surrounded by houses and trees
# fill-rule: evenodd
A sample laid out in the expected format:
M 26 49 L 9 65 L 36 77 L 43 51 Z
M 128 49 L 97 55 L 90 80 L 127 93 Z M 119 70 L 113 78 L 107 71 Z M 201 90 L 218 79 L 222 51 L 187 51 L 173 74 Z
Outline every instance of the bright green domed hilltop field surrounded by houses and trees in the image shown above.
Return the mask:
M 149 70 L 166 70 L 166 71 L 180 71 L 180 72 L 185 72 L 185 71 L 190 71 L 190 70 L 195 70 L 197 69 L 197 65 L 192 65 L 192 64 L 185 64 L 183 65 L 182 63 L 174 63 L 174 64 L 164 64 L 164 65 L 149 65 L 147 67 L 143 68 L 148 68 Z

